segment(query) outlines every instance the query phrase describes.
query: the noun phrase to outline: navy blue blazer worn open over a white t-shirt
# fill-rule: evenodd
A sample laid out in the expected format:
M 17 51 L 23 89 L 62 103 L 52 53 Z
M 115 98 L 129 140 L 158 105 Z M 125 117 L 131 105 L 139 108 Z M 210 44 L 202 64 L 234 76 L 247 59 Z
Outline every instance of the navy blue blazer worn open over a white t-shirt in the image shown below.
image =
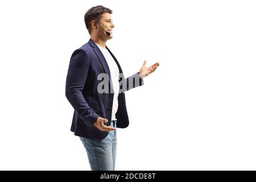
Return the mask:
M 108 47 L 106 48 L 117 63 L 119 73 L 123 73 L 113 53 Z M 100 73 L 108 75 L 110 78 L 109 88 L 112 88 L 108 63 L 98 46 L 90 39 L 88 43 L 72 53 L 65 85 L 65 96 L 74 108 L 71 131 L 77 136 L 103 139 L 108 135 L 108 131 L 100 131 L 93 125 L 98 117 L 102 117 L 108 119 L 109 122 L 105 125 L 109 126 L 112 117 L 114 93 L 97 92 L 97 86 L 102 81 L 97 79 Z M 134 82 L 135 79 L 138 79 L 139 82 Z M 135 73 L 125 79 L 119 77 L 119 84 L 126 86 L 122 90 L 127 91 L 143 85 L 143 79 L 139 78 L 139 73 Z M 115 117 L 117 118 L 117 127 L 125 128 L 129 125 L 125 92 L 118 94 L 118 110 Z

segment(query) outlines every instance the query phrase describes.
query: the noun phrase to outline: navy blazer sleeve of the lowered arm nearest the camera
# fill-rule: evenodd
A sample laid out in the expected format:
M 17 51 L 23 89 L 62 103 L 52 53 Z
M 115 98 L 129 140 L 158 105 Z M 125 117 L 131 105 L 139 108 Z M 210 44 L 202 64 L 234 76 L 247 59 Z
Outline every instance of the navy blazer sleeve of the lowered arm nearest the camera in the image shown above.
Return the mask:
M 68 67 L 65 96 L 82 121 L 92 127 L 99 116 L 89 107 L 82 95 L 88 76 L 89 64 L 88 55 L 83 49 L 77 49 L 73 52 Z

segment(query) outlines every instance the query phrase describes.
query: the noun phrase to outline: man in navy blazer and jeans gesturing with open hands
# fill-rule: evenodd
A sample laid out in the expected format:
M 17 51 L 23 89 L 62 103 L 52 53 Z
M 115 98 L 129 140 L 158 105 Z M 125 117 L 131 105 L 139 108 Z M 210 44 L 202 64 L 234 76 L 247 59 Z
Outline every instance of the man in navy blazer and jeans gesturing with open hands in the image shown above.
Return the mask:
M 114 170 L 116 127 L 129 125 L 124 92 L 143 85 L 143 78 L 159 66 L 155 63 L 146 67 L 145 60 L 138 73 L 123 78 L 117 59 L 106 47 L 107 40 L 113 38 L 111 14 L 112 10 L 104 6 L 86 12 L 84 20 L 90 40 L 73 52 L 65 88 L 75 109 L 71 131 L 84 144 L 92 170 Z M 104 78 L 103 85 L 99 78 Z

